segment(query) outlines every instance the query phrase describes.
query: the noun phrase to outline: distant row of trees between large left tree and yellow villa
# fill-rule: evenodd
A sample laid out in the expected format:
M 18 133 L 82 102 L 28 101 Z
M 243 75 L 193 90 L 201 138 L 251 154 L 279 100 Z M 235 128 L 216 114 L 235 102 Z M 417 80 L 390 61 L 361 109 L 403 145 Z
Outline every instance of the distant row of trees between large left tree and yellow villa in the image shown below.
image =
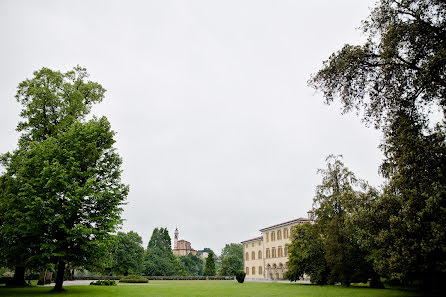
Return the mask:
M 235 275 L 243 267 L 243 246 L 227 244 L 222 251 L 222 263 L 217 269 L 216 255 L 206 249 L 208 256 L 203 259 L 192 253 L 175 256 L 171 238 L 166 228 L 153 230 L 147 249 L 142 247 L 142 238 L 133 231 L 119 232 L 109 261 L 103 272 L 109 275 L 146 275 L 146 276 L 214 276 Z

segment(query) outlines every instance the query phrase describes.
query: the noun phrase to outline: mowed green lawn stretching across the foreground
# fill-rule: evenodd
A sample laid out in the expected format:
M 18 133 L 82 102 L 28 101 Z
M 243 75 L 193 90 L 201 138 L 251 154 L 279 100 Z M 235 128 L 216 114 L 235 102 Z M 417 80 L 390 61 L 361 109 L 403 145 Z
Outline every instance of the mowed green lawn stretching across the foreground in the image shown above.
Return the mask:
M 5 288 L 0 296 L 308 296 L 308 297 L 386 297 L 420 296 L 416 292 L 367 287 L 316 286 L 295 283 L 236 281 L 150 281 L 148 285 L 66 286 L 61 293 L 51 287 Z

